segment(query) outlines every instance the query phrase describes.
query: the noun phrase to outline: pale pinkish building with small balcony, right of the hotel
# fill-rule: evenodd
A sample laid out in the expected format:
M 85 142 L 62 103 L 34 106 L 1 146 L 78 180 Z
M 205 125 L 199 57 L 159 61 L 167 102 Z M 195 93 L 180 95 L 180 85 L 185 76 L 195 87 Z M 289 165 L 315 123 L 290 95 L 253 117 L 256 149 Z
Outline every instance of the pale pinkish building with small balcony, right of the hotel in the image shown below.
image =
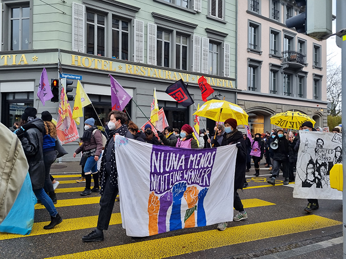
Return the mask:
M 252 133 L 277 128 L 270 117 L 292 110 L 327 126 L 326 41 L 285 25 L 302 11 L 294 0 L 237 1 L 237 99 Z

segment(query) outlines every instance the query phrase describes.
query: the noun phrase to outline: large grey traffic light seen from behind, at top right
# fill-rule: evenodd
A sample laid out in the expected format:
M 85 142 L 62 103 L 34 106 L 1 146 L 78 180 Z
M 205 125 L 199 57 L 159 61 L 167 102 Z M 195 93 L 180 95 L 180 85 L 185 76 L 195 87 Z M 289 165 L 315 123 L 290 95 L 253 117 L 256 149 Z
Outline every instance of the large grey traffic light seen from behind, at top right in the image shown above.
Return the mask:
M 288 28 L 317 40 L 332 34 L 332 0 L 296 0 L 305 11 L 286 20 Z

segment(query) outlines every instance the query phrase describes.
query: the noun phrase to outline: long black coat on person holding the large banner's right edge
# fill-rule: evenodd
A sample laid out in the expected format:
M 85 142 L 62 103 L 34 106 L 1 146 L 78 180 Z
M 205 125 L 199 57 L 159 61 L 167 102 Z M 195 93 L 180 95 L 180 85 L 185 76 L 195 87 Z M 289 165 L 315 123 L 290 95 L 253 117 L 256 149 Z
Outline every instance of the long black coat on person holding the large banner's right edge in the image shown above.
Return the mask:
M 246 145 L 243 133 L 236 132 L 233 136 L 227 139 L 227 133 L 223 134 L 222 145 L 237 144 L 240 142 L 241 146 L 238 148 L 237 157 L 235 161 L 235 175 L 234 175 L 234 189 L 242 189 L 245 183 L 245 170 L 246 170 Z

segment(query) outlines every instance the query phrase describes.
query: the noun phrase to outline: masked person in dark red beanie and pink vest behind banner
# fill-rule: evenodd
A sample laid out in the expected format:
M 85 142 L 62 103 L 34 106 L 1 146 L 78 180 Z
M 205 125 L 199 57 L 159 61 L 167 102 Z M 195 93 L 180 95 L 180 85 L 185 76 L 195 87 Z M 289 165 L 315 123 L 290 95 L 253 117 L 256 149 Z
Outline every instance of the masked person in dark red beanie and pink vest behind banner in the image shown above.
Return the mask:
M 176 148 L 198 148 L 197 141 L 194 139 L 192 133 L 193 129 L 188 124 L 184 124 L 181 127 L 180 136 L 176 140 L 169 140 L 162 132 L 157 132 L 159 138 L 165 146 Z

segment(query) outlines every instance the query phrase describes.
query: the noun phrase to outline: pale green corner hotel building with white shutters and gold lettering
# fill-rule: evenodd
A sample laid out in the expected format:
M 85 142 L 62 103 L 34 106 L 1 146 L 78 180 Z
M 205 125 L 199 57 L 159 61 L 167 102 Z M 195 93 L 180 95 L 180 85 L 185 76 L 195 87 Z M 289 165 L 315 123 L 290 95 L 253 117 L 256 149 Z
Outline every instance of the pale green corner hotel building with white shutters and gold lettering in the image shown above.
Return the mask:
M 96 110 L 84 108 L 80 135 L 83 119 L 107 121 L 109 74 L 133 97 L 126 110 L 139 127 L 154 88 L 170 125 L 193 122 L 196 108 L 165 93 L 180 78 L 196 104 L 202 75 L 215 95 L 237 102 L 236 0 L 0 0 L 0 9 L 0 114 L 9 128 L 29 106 L 57 118 L 59 103 L 43 107 L 37 97 L 43 68 L 49 78 L 80 78 Z M 65 160 L 77 145 L 65 145 Z

